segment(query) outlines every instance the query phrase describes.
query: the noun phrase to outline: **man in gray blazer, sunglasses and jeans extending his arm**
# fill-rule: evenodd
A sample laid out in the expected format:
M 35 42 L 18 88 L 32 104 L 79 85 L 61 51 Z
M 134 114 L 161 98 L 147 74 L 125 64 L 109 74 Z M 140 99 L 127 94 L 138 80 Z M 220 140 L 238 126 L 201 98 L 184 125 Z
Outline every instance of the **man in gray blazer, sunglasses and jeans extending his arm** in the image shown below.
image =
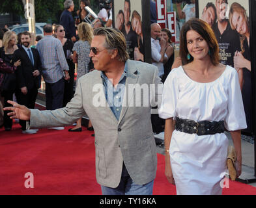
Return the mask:
M 63 109 L 29 110 L 9 101 L 13 107 L 5 110 L 32 128 L 70 125 L 86 112 L 95 131 L 102 194 L 152 194 L 157 158 L 150 111 L 162 96 L 158 69 L 128 60 L 124 35 L 111 28 L 94 31 L 90 57 L 96 70 L 78 80 Z

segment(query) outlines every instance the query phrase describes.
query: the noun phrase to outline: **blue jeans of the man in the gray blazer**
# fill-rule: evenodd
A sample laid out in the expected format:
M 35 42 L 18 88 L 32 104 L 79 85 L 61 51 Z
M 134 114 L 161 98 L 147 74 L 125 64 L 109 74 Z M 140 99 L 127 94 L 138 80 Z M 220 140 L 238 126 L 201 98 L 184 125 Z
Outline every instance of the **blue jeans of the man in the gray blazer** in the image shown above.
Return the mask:
M 117 188 L 102 187 L 102 195 L 152 195 L 154 180 L 144 185 L 132 181 L 125 165 L 122 166 L 121 181 Z

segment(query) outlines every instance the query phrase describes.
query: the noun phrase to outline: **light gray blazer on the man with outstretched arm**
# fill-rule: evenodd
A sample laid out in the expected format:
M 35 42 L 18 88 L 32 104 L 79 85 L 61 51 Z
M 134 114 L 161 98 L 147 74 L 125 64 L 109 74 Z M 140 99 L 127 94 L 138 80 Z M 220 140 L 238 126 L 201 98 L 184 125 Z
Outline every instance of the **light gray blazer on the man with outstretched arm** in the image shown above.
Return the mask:
M 156 144 L 150 104 L 161 102 L 162 90 L 156 90 L 150 84 L 162 86 L 162 83 L 156 66 L 134 60 L 127 60 L 127 64 L 126 92 L 119 120 L 107 106 L 101 72 L 98 70 L 78 80 L 74 98 L 66 107 L 31 110 L 31 128 L 70 125 L 86 112 L 95 132 L 96 179 L 100 185 L 111 188 L 117 187 L 121 181 L 123 162 L 138 185 L 149 183 L 156 176 Z M 151 99 L 147 98 L 147 93 L 137 90 L 141 86 L 146 88 L 143 92 L 147 92 L 150 86 Z

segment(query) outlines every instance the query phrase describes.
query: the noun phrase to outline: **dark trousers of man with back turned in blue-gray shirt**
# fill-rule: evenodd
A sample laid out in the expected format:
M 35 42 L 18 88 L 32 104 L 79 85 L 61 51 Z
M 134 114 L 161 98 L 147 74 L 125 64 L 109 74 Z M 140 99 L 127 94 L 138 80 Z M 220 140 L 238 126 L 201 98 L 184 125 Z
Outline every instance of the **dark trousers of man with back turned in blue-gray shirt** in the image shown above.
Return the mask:
M 55 110 L 63 107 L 64 78 L 57 83 L 46 83 L 46 109 Z

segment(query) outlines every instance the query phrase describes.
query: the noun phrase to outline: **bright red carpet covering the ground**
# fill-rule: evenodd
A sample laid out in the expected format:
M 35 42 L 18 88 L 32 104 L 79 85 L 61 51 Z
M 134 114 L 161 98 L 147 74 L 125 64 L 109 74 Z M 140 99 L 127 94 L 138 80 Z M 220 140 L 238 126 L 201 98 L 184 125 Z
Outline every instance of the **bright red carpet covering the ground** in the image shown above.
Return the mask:
M 12 131 L 0 129 L 0 194 L 7 195 L 98 195 L 94 164 L 94 137 L 83 128 L 81 133 L 40 129 L 35 135 L 23 135 L 20 125 Z M 34 188 L 25 188 L 25 174 L 34 175 Z M 154 195 L 176 194 L 164 175 L 164 156 L 158 154 L 158 172 Z M 255 195 L 256 188 L 229 182 L 227 195 Z

